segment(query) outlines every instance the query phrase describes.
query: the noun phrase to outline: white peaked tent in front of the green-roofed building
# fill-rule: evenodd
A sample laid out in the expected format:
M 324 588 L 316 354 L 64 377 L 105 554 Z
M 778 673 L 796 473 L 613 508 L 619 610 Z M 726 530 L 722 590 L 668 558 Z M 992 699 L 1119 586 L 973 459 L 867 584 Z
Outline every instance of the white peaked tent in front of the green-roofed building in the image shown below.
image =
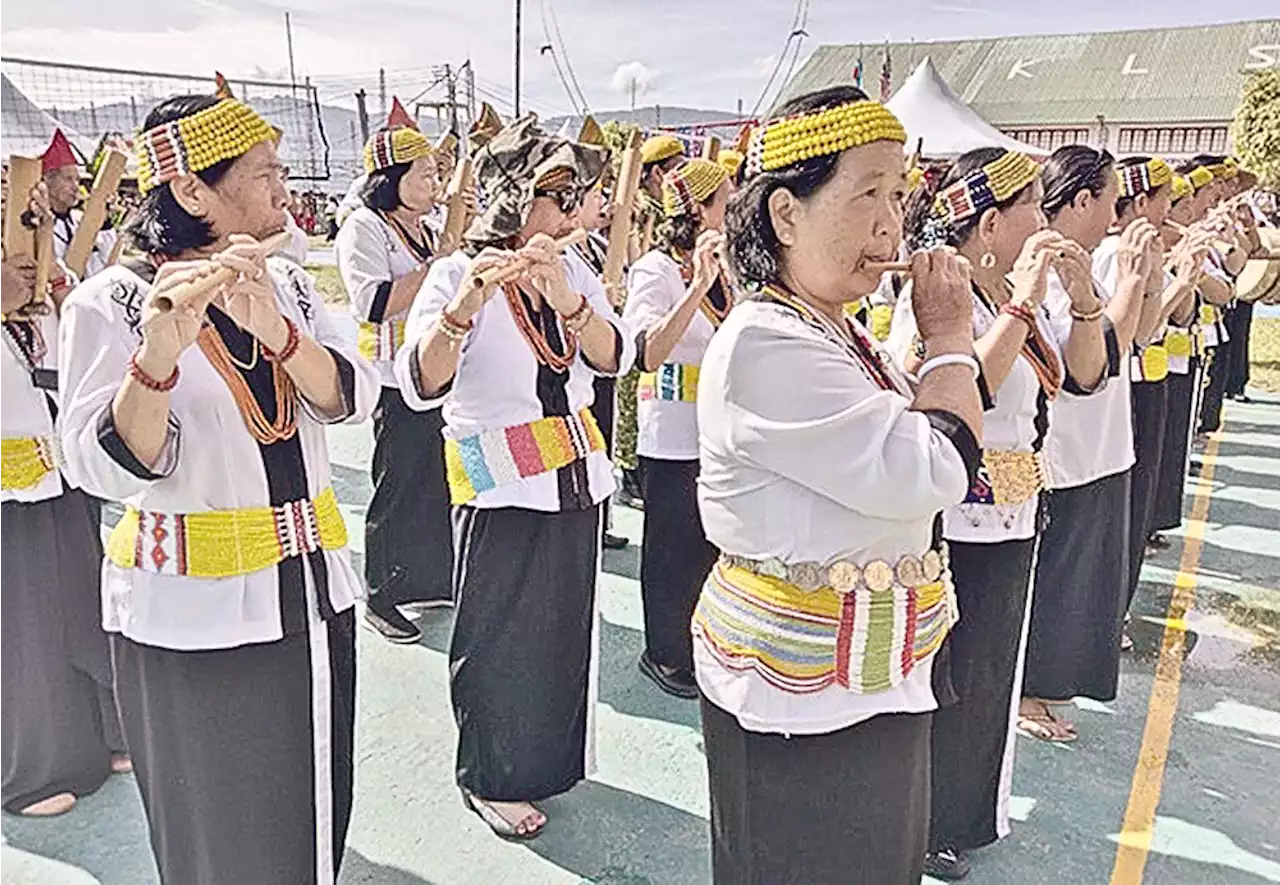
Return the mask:
M 923 138 L 927 158 L 956 158 L 975 147 L 1005 147 L 1032 156 L 1047 154 L 1010 138 L 982 119 L 978 111 L 956 97 L 928 56 L 887 106 L 906 127 L 908 150 L 914 151 Z

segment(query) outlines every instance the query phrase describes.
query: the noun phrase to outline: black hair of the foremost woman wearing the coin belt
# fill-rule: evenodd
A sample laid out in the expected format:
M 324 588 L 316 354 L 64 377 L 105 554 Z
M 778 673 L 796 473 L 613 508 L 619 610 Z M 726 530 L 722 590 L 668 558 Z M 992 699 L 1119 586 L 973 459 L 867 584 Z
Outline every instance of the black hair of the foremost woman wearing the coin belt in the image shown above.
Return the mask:
M 855 86 L 832 86 L 791 99 L 773 117 L 812 114 L 854 101 L 867 101 L 867 93 Z M 773 219 L 769 218 L 769 197 L 773 192 L 786 188 L 797 200 L 805 200 L 831 181 L 838 163 L 838 154 L 827 154 L 773 172 L 762 172 L 733 195 L 724 214 L 724 233 L 730 265 L 742 283 L 778 282 L 781 245 L 773 229 Z

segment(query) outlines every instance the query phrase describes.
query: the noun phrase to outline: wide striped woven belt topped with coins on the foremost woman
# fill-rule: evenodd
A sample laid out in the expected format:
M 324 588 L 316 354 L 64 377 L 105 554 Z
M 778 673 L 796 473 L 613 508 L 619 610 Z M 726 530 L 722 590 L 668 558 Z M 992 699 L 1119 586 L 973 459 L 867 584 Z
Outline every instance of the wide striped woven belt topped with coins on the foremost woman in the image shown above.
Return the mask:
M 771 564 L 732 562 L 742 560 L 721 560 L 703 585 L 694 635 L 726 669 L 755 671 L 792 694 L 831 685 L 855 694 L 896 688 L 937 654 L 959 620 L 945 548 L 896 565 L 790 566 L 790 574 L 828 581 L 813 590 L 763 574 Z M 852 587 L 837 590 L 829 581 Z

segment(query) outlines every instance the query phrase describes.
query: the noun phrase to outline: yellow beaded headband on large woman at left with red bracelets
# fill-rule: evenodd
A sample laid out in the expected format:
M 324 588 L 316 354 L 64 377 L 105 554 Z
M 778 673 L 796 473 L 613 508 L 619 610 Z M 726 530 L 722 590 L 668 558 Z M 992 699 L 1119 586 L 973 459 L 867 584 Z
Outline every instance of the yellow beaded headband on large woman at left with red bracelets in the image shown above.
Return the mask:
M 243 156 L 264 141 L 275 141 L 275 129 L 248 105 L 223 99 L 138 137 L 138 192 Z

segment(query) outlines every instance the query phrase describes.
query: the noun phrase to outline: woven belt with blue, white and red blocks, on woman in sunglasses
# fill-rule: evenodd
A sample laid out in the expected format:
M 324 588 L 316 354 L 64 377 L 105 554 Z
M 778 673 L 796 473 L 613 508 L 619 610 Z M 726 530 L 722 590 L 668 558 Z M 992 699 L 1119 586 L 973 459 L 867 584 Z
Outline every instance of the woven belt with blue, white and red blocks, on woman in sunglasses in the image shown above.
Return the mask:
M 444 441 L 449 499 L 463 505 L 527 476 L 559 470 L 604 451 L 604 437 L 589 409 L 570 418 L 540 418 L 462 439 Z

